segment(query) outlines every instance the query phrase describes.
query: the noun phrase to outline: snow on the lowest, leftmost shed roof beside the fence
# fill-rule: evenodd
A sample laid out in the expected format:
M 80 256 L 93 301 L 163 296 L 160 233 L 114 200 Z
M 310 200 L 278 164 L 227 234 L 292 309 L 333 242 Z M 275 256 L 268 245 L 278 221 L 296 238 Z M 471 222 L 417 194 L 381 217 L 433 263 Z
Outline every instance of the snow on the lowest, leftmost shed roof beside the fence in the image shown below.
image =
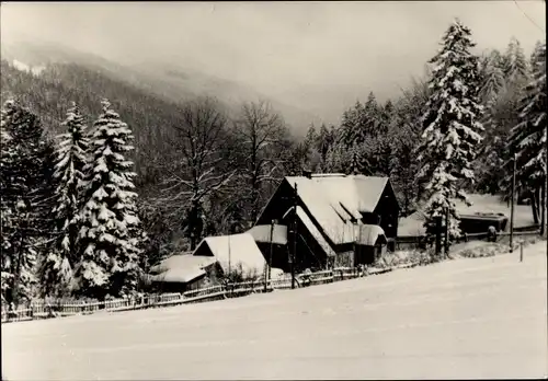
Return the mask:
M 151 268 L 151 272 L 158 274 L 152 275 L 150 280 L 186 284 L 202 275 L 205 275 L 206 273 L 203 268 L 213 263 L 215 263 L 214 257 L 194 256 L 189 254 L 172 255 Z

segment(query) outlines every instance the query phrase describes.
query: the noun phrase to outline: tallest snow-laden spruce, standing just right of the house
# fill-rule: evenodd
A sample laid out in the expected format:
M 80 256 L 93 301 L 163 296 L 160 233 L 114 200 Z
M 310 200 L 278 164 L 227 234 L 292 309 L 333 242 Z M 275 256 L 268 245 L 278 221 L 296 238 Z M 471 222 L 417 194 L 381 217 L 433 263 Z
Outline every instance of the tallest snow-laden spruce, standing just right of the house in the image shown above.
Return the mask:
M 464 187 L 473 181 L 472 160 L 481 141 L 481 106 L 478 103 L 478 57 L 468 27 L 456 20 L 430 61 L 434 69 L 431 95 L 422 117 L 420 160 L 421 198 L 426 201 L 429 232 L 435 217 L 449 213 L 449 236 L 460 234 L 455 198 L 467 201 Z

